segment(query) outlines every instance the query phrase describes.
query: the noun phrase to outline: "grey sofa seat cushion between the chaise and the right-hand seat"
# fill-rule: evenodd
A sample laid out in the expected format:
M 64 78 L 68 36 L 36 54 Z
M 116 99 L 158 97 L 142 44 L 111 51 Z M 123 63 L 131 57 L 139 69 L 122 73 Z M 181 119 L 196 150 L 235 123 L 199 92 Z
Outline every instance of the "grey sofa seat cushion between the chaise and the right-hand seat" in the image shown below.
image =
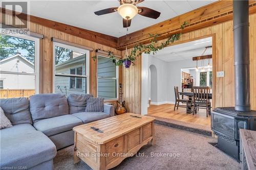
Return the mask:
M 47 136 L 72 130 L 78 125 L 82 125 L 82 121 L 71 114 L 42 119 L 34 123 L 35 129 Z

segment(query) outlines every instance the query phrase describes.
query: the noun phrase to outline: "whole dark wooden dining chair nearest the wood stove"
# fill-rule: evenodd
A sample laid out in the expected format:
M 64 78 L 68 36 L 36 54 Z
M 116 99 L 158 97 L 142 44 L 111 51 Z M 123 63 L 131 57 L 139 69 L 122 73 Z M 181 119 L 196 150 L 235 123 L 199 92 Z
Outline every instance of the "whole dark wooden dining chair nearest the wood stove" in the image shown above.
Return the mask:
M 206 117 L 210 113 L 211 103 L 208 98 L 210 88 L 194 86 L 193 87 L 193 115 L 197 113 L 197 109 L 206 109 Z

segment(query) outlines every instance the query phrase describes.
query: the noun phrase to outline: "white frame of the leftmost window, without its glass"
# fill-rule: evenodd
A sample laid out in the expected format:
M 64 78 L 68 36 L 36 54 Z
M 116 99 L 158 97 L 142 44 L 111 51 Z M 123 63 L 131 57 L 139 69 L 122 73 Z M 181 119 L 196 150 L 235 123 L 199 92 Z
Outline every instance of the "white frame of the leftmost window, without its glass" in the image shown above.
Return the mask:
M 15 29 L 14 29 L 15 30 Z M 3 33 L 3 32 L 2 32 Z M 2 34 L 1 33 L 1 34 Z M 35 94 L 39 93 L 39 38 L 31 37 L 25 34 L 18 34 L 14 31 L 13 34 L 2 34 L 7 36 L 12 36 L 15 38 L 22 38 L 30 41 L 35 42 L 35 60 L 34 60 L 34 72 L 13 72 L 13 71 L 2 71 L 0 70 L 1 74 L 10 74 L 10 75 L 29 75 L 35 76 Z

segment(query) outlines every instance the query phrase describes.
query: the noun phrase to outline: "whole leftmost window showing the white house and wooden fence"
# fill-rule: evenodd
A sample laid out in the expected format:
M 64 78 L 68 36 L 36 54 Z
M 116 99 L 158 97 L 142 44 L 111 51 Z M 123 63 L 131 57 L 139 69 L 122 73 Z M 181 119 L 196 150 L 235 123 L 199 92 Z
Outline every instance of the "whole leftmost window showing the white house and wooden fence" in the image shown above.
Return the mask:
M 39 39 L 0 34 L 1 98 L 29 97 L 39 89 Z

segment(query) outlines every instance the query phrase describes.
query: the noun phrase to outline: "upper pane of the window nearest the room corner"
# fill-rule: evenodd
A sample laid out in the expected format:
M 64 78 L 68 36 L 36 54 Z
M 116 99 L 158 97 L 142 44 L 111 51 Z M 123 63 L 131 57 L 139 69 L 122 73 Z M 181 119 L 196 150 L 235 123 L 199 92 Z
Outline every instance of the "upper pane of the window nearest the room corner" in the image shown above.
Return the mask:
M 116 78 L 116 66 L 112 59 L 98 56 L 98 77 Z

